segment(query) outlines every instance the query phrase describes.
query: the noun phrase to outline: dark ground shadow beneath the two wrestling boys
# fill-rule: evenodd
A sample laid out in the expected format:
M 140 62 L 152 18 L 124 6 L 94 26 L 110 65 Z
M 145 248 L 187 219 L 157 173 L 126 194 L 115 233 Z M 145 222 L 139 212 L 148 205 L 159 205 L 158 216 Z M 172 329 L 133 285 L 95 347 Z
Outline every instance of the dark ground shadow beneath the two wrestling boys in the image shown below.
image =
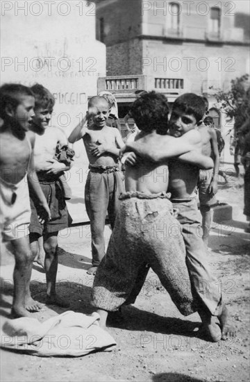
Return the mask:
M 122 308 L 122 314 L 111 313 L 108 316 L 107 324 L 108 326 L 130 331 L 149 331 L 188 337 L 197 337 L 198 332 L 194 330 L 201 326 L 201 322 L 185 321 L 176 317 L 161 317 L 134 306 Z

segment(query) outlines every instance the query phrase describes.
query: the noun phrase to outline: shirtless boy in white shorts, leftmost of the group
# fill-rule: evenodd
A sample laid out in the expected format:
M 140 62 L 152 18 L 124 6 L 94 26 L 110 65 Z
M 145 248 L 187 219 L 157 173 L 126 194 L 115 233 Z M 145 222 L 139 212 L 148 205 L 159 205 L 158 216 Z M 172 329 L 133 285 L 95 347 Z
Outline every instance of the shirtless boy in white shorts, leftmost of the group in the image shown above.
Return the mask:
M 15 256 L 12 317 L 30 317 L 27 310 L 41 308 L 31 298 L 29 284 L 33 256 L 28 242 L 31 208 L 28 183 L 38 198 L 40 210 L 51 217 L 49 206 L 34 171 L 35 134 L 29 130 L 34 114 L 33 93 L 24 85 L 5 84 L 0 88 L 0 222 L 3 240 L 12 243 Z

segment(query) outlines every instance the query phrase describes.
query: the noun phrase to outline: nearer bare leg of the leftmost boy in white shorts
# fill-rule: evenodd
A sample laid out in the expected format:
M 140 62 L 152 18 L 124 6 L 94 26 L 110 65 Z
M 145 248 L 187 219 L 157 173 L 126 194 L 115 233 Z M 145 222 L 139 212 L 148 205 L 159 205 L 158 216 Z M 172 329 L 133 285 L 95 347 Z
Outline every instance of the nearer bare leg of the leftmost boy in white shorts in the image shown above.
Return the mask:
M 28 238 L 12 240 L 12 248 L 15 256 L 15 268 L 13 273 L 14 297 L 11 314 L 13 318 L 31 317 L 25 306 L 25 298 L 29 291 L 33 263 Z

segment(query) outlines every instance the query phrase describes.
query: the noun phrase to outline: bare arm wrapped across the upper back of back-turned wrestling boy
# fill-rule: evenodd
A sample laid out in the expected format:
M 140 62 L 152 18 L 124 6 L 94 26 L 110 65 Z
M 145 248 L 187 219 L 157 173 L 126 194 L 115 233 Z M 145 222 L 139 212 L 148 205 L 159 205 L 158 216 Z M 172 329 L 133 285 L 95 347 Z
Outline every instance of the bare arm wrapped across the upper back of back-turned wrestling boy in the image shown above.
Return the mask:
M 180 156 L 194 149 L 201 147 L 201 135 L 198 131 L 192 130 L 185 133 L 180 138 L 174 138 L 170 135 L 162 135 L 158 147 L 152 147 L 150 142 L 128 142 L 121 153 L 133 151 L 142 158 L 153 162 L 165 162 L 165 160 L 174 156 Z

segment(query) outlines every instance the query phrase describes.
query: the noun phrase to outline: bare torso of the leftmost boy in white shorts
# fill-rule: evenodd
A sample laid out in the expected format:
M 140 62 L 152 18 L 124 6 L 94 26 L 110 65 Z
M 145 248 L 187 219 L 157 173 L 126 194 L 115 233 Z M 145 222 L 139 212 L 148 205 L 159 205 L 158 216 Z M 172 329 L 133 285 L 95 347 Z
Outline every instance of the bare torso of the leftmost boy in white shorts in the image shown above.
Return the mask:
M 9 129 L 0 133 L 0 177 L 3 181 L 17 184 L 28 172 L 31 135 L 33 133 L 28 132 L 20 140 Z

